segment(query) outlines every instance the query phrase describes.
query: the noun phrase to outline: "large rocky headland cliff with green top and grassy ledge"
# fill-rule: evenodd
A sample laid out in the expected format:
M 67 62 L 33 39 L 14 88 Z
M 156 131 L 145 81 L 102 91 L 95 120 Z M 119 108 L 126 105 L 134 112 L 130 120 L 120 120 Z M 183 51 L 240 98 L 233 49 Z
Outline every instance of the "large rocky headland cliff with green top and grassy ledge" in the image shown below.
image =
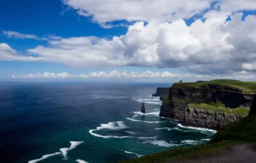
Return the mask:
M 255 87 L 253 87 L 255 86 Z M 256 83 L 212 80 L 202 83 L 174 83 L 163 99 L 160 117 L 185 125 L 219 129 L 248 115 Z

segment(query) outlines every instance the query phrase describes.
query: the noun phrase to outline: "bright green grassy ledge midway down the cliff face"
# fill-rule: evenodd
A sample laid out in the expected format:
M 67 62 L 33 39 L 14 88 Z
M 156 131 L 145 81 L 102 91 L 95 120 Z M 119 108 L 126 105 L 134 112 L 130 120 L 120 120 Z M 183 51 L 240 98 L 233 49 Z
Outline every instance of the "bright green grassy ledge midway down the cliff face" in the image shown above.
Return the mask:
M 249 110 L 244 107 L 238 107 L 238 108 L 225 108 L 224 106 L 221 106 L 221 104 L 217 104 L 218 106 L 213 106 L 210 104 L 188 104 L 188 108 L 195 108 L 195 109 L 204 109 L 207 111 L 223 111 L 226 114 L 229 115 L 241 115 L 241 116 L 247 116 L 249 115 Z

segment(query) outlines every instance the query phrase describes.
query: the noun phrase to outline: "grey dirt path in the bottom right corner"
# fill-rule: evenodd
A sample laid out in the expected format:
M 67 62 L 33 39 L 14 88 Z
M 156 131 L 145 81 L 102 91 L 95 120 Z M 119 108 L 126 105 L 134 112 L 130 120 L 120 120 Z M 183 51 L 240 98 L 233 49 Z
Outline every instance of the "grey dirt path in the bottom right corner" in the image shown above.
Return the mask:
M 256 163 L 256 149 L 250 144 L 237 144 L 203 157 L 176 160 L 168 163 Z

